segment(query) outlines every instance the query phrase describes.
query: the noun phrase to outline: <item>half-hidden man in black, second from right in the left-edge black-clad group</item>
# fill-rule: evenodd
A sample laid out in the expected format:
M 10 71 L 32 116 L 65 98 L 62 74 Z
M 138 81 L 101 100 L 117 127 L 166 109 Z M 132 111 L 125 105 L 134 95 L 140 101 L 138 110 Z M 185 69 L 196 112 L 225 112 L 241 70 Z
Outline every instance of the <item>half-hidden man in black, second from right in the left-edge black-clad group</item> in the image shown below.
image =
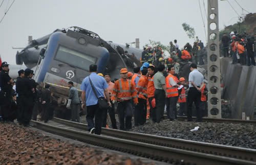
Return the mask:
M 20 125 L 22 125 L 22 122 L 20 121 L 21 117 L 22 117 L 22 101 L 19 97 L 19 89 L 20 88 L 20 85 L 22 84 L 22 79 L 25 77 L 25 71 L 23 69 L 21 70 L 18 70 L 18 77 L 16 79 L 16 85 L 15 85 L 15 90 L 16 90 L 16 93 L 17 93 L 17 98 L 16 98 L 16 103 L 17 103 L 17 121 Z

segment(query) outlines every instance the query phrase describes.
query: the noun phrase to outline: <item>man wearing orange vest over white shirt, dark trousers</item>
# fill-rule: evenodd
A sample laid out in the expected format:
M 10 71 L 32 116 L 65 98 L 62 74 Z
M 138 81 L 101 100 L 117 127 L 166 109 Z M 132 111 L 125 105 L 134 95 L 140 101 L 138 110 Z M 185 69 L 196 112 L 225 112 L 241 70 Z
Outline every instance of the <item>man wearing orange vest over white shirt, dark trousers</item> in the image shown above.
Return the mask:
M 168 119 L 170 121 L 176 121 L 177 119 L 177 101 L 178 101 L 178 87 L 177 84 L 179 82 L 178 78 L 174 76 L 175 74 L 175 67 L 174 65 L 171 65 L 168 67 L 168 76 L 165 78 L 166 83 L 166 94 L 167 94 L 167 100 L 168 100 Z

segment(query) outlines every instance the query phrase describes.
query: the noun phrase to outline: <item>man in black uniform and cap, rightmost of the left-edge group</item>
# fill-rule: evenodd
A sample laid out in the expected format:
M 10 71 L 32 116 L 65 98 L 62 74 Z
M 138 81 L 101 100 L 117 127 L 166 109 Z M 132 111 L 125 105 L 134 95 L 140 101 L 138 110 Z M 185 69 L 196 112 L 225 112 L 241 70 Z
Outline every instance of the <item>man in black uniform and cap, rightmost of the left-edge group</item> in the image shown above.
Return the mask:
M 17 87 L 17 86 L 16 86 Z M 25 77 L 21 79 L 20 88 L 18 89 L 18 97 L 22 101 L 21 119 L 20 122 L 26 127 L 32 117 L 33 105 L 34 105 L 34 84 L 31 79 L 31 70 L 25 69 Z

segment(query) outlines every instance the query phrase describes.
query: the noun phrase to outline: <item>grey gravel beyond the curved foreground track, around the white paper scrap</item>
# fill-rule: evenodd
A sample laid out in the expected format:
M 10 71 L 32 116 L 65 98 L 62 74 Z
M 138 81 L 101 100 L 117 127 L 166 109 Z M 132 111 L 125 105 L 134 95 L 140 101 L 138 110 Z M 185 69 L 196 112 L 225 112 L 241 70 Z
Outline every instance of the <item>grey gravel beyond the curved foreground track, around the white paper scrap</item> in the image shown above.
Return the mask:
M 80 119 L 82 123 L 86 123 L 85 116 L 81 116 Z M 117 127 L 119 128 L 117 115 L 116 119 Z M 256 149 L 256 125 L 185 121 L 170 122 L 169 120 L 153 123 L 151 120 L 147 120 L 146 124 L 134 127 L 133 121 L 133 128 L 131 130 L 133 132 Z M 109 124 L 111 125 L 111 122 Z M 197 126 L 199 130 L 190 131 Z

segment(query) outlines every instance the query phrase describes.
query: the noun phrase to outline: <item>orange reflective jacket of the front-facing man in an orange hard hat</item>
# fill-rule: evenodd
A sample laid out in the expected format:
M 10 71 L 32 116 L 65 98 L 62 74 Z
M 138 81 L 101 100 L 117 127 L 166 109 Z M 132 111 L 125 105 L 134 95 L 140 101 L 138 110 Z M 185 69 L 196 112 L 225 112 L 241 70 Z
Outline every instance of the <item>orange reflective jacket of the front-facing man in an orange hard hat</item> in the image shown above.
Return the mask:
M 135 86 L 128 79 L 126 79 L 126 81 L 124 81 L 122 78 L 117 80 L 112 91 L 111 100 L 125 101 L 131 99 L 134 100 L 134 103 L 138 103 Z

